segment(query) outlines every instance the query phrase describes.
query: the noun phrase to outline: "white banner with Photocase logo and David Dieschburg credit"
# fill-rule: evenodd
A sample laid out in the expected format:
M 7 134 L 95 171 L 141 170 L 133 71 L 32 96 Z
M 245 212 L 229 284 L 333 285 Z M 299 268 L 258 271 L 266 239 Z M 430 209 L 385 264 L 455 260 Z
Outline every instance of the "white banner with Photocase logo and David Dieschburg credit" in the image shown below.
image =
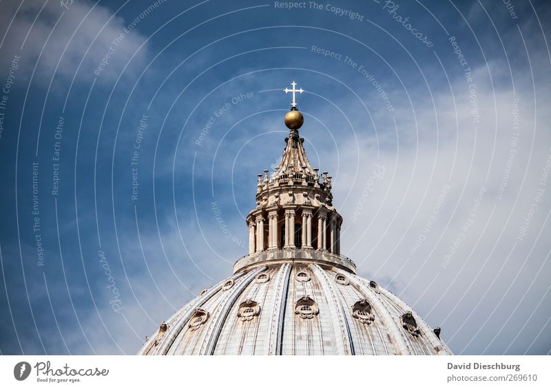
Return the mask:
M 1 388 L 551 388 L 550 356 L 0 356 Z

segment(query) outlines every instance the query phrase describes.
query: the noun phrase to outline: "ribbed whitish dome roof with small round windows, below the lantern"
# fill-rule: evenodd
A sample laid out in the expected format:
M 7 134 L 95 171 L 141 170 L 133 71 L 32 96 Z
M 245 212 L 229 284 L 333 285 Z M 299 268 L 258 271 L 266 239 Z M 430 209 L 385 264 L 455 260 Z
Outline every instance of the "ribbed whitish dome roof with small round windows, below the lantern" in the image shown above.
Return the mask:
M 308 251 L 315 252 L 289 252 L 299 257 L 293 260 L 276 250 L 202 291 L 161 324 L 140 354 L 451 354 L 407 304 L 355 275 L 350 260 L 300 258 L 315 254 Z

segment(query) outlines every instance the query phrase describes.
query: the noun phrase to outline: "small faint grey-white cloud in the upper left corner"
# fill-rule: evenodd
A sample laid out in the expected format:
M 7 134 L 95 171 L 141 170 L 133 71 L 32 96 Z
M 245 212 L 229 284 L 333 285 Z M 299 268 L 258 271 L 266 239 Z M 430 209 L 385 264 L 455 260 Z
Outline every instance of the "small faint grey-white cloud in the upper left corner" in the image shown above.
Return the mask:
M 59 1 L 48 1 L 44 6 L 25 1 L 18 7 L 15 1 L 4 1 L 0 6 L 0 24 L 9 25 L 0 64 L 8 67 L 14 56 L 21 56 L 18 77 L 28 78 L 39 60 L 35 80 L 48 84 L 55 71 L 68 82 L 82 61 L 77 81 L 96 77 L 100 82 L 113 81 L 135 53 L 134 65 L 145 60 L 146 47 L 139 48 L 145 37 L 137 29 L 125 33 L 129 22 L 97 3 L 76 1 L 67 9 Z M 114 43 L 116 38 L 119 41 Z M 110 58 L 98 71 L 99 76 L 94 74 L 107 55 Z M 130 66 L 127 71 L 132 69 Z

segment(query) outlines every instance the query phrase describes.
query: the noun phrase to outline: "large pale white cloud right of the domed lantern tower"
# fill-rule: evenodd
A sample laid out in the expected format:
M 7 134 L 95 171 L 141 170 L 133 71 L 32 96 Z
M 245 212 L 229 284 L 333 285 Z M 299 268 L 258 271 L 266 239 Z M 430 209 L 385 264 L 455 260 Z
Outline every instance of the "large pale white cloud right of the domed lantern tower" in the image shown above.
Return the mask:
M 503 71 L 497 66 L 493 63 L 490 69 Z M 344 217 L 342 249 L 356 261 L 360 274 L 383 286 L 391 280 L 393 292 L 430 324 L 441 324 L 443 339 L 450 341 L 453 351 L 503 353 L 511 346 L 509 353 L 524 353 L 537 331 L 530 326 L 522 333 L 516 331 L 532 312 L 530 324 L 543 328 L 549 314 L 545 302 L 550 297 L 543 294 L 551 276 L 544 244 L 549 233 L 548 196 L 540 199 L 523 240 L 517 241 L 517 236 L 542 188 L 543 168 L 551 155 L 550 136 L 543 131 L 551 120 L 545 108 L 551 96 L 549 89 L 537 87 L 534 100 L 529 74 L 517 77 L 516 95 L 512 89 L 491 89 L 486 69 L 475 74 L 481 111 L 477 131 L 469 113 L 468 89 L 459 79 L 453 83 L 455 103 L 449 93 L 433 92 L 438 121 L 432 110 L 416 112 L 418 144 L 413 113 L 403 107 L 396 113 L 397 132 L 377 129 L 390 135 L 393 145 L 377 150 L 375 137 L 368 132 L 358 134 L 358 144 L 351 137 L 342 144 L 338 163 L 346 168 L 334 185 L 335 203 Z M 519 98 L 519 136 L 512 144 L 515 96 Z M 354 152 L 358 146 L 359 164 Z M 373 192 L 364 192 L 375 164 L 385 166 L 384 179 L 372 182 Z M 354 179 L 356 166 L 361 173 Z M 450 188 L 434 214 L 446 185 Z M 486 192 L 477 206 L 481 187 Z M 352 223 L 365 193 L 361 216 Z M 455 240 L 459 244 L 450 249 Z M 532 280 L 534 285 L 528 289 Z M 541 298 L 543 304 L 538 306 Z

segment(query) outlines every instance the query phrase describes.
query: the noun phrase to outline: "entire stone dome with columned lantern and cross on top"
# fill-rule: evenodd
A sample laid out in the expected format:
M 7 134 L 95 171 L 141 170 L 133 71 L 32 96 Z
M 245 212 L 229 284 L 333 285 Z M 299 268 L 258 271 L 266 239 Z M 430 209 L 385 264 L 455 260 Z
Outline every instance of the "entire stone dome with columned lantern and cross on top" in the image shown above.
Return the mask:
M 302 89 L 291 85 L 295 115 Z M 141 355 L 451 354 L 439 328 L 340 254 L 331 176 L 311 167 L 303 142 L 290 128 L 279 166 L 258 175 L 249 254 L 233 276 L 162 322 Z

